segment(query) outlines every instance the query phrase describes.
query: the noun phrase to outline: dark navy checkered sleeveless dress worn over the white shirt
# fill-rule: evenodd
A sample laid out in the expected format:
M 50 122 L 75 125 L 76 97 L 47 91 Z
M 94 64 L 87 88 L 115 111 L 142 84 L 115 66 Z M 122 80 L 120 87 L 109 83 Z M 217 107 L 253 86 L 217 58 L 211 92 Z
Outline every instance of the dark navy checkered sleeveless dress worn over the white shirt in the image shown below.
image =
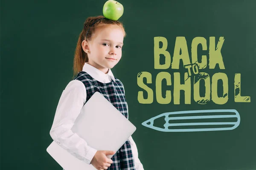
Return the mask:
M 125 100 L 124 87 L 119 79 L 115 78 L 115 81 L 109 83 L 102 83 L 93 79 L 89 74 L 84 71 L 78 73 L 74 78 L 84 83 L 86 88 L 87 98 L 98 91 L 101 93 L 117 110 L 119 110 L 126 118 L 128 117 L 128 105 Z M 113 164 L 108 167 L 108 170 L 135 170 L 134 159 L 131 152 L 130 141 L 127 140 L 125 144 L 114 154 L 111 158 Z

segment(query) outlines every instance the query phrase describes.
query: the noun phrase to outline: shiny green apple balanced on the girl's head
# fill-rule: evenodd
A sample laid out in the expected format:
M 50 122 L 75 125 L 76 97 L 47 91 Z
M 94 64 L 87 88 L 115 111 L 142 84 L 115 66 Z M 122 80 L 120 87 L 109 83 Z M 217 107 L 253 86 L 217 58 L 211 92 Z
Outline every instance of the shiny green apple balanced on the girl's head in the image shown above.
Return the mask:
M 118 20 L 123 13 L 124 7 L 115 0 L 108 0 L 103 6 L 103 15 L 110 20 Z

